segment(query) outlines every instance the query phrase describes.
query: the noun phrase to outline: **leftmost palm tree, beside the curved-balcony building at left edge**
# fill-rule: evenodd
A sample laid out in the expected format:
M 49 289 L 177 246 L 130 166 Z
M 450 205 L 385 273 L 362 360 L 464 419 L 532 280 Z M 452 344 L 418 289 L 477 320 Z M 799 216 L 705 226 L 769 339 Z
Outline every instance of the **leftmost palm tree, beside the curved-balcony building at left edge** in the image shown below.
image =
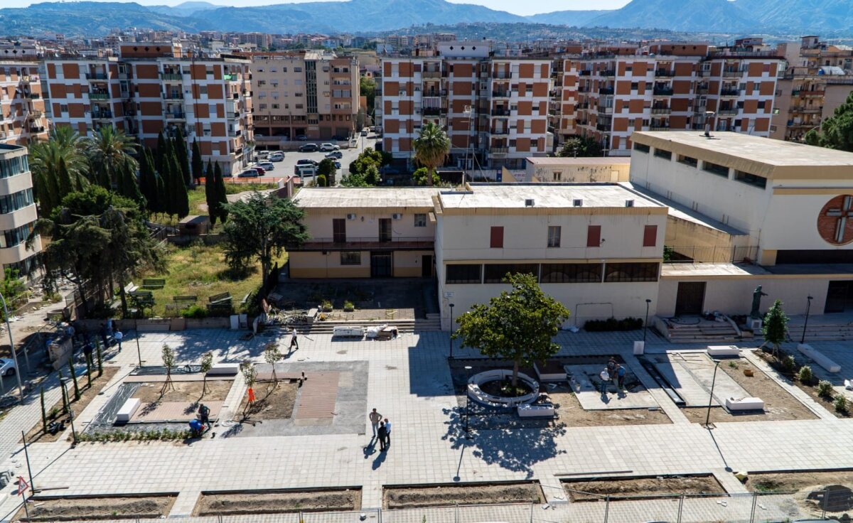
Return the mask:
M 83 148 L 80 135 L 67 125 L 50 131 L 47 142 L 30 146 L 32 184 L 42 216 L 49 216 L 60 205 L 69 190 L 69 178 L 71 191 L 83 190 L 89 184 L 85 177 L 88 163 Z

